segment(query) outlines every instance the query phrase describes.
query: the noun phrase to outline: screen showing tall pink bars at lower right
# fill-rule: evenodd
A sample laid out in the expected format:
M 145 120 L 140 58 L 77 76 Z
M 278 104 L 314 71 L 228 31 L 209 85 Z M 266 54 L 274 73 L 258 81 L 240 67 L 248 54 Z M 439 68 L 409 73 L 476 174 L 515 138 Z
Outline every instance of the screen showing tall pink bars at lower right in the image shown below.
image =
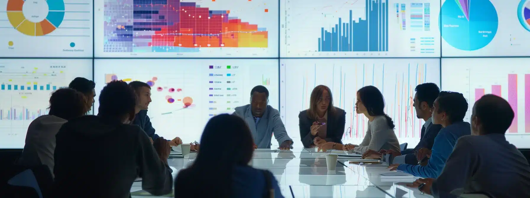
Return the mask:
M 464 94 L 470 108 L 464 121 L 470 121 L 473 104 L 485 94 L 500 96 L 510 103 L 514 121 L 506 138 L 518 148 L 528 148 L 530 140 L 530 58 L 442 59 L 442 88 Z

